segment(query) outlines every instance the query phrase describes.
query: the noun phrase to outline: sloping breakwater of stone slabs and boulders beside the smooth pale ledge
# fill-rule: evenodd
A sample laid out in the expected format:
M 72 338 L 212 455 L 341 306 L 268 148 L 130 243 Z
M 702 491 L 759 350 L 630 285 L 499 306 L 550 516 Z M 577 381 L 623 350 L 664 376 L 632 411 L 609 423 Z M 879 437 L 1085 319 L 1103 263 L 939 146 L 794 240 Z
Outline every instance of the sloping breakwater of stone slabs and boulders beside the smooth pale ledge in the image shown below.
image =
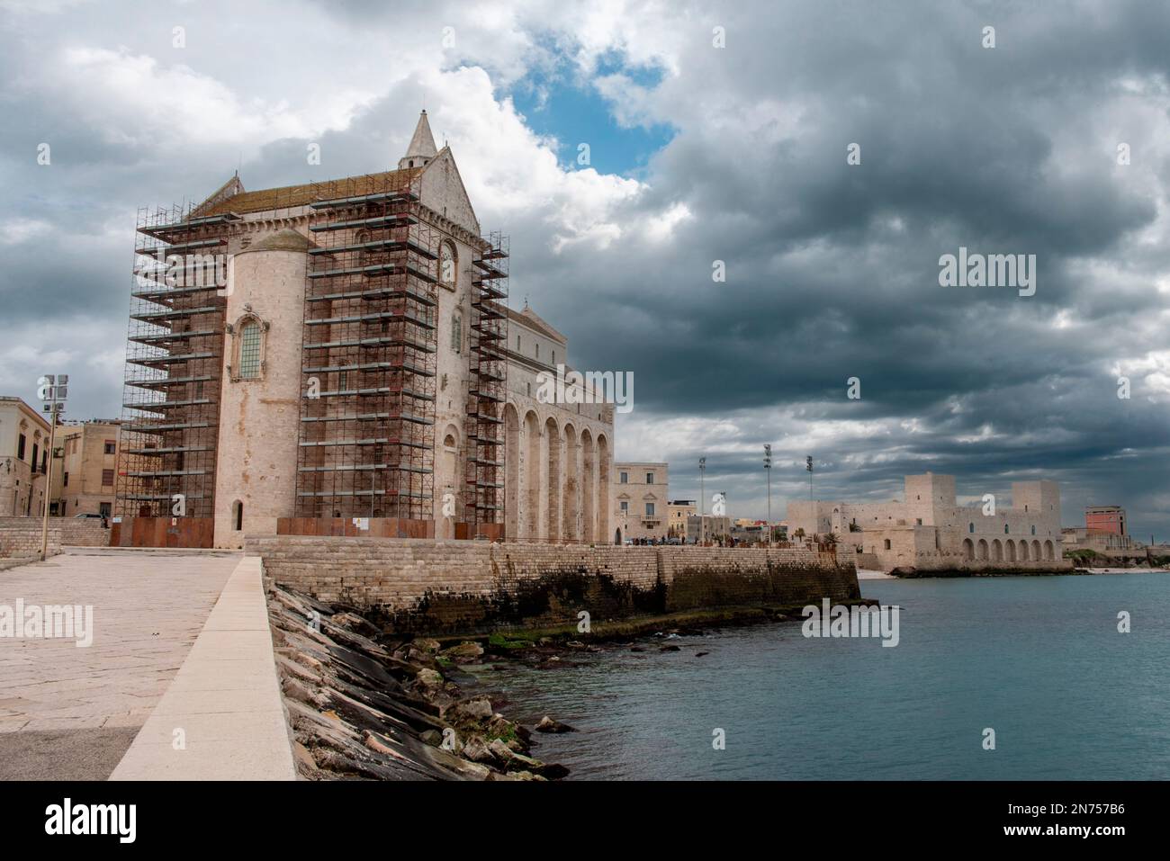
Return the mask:
M 386 638 L 349 607 L 273 586 L 273 647 L 294 762 L 308 780 L 549 780 L 531 732 L 454 681 L 476 642 Z M 475 684 L 467 674 L 467 681 Z M 569 728 L 545 718 L 535 729 Z

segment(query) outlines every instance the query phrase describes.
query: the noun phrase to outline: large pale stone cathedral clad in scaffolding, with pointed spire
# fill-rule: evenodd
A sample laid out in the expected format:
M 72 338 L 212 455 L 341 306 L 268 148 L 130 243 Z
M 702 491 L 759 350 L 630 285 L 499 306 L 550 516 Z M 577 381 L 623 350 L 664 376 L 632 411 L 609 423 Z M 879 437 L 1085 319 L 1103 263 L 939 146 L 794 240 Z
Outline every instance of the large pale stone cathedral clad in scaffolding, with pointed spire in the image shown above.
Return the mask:
M 136 235 L 111 543 L 614 539 L 613 405 L 537 397 L 567 340 L 426 111 L 397 170 L 233 177 Z

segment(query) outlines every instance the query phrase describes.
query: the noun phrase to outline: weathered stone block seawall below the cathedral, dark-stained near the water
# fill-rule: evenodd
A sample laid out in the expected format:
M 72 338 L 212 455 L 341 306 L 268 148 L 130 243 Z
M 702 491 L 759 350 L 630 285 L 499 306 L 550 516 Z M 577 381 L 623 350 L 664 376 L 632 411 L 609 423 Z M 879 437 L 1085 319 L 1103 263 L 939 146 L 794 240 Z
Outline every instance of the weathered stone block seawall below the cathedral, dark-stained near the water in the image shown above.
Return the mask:
M 249 537 L 276 583 L 377 611 L 391 629 L 456 633 L 736 605 L 860 597 L 852 549 L 489 544 Z

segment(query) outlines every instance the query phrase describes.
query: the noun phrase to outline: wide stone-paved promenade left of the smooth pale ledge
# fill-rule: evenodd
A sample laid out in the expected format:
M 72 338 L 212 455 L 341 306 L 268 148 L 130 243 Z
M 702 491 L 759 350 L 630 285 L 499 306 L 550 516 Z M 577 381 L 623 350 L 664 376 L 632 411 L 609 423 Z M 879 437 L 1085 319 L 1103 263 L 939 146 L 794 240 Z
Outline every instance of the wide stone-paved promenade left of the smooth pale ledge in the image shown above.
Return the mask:
M 0 780 L 104 779 L 240 556 L 74 550 L 0 571 L 0 605 L 89 605 L 94 641 L 0 636 Z

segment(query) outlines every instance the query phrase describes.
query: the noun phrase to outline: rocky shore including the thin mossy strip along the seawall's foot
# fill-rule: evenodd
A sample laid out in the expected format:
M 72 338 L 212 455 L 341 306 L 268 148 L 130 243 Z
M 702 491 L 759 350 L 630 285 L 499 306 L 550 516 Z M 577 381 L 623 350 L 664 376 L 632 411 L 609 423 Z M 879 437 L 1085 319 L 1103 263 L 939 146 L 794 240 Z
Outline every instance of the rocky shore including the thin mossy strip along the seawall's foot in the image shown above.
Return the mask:
M 573 728 L 550 716 L 532 726 L 508 719 L 484 693 L 490 686 L 464 668 L 517 661 L 562 669 L 584 652 L 677 652 L 673 640 L 702 634 L 704 626 L 796 620 L 800 611 L 730 607 L 603 622 L 586 633 L 565 626 L 434 639 L 387 634 L 373 621 L 376 612 L 267 587 L 294 759 L 307 780 L 563 778 L 567 769 L 531 756 L 532 733 Z M 651 640 L 635 641 L 645 636 Z

